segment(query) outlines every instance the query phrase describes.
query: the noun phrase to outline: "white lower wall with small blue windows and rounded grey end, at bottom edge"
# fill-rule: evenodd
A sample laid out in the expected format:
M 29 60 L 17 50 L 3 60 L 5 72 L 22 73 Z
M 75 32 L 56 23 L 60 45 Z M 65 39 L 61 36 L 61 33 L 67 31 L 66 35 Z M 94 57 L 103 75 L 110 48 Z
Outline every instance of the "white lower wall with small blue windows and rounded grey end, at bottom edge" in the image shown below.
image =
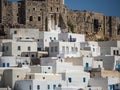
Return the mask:
M 40 90 L 55 90 L 53 88 L 54 85 L 55 87 L 58 87 L 58 85 L 61 84 L 61 80 L 57 80 L 56 78 L 54 78 L 54 76 L 52 77 L 52 80 L 45 80 L 45 79 L 18 80 L 15 84 L 16 87 L 15 90 L 30 90 L 30 86 L 31 86 L 31 90 L 38 90 L 37 89 L 38 85 L 40 87 Z M 49 85 L 49 89 L 48 89 L 48 85 Z

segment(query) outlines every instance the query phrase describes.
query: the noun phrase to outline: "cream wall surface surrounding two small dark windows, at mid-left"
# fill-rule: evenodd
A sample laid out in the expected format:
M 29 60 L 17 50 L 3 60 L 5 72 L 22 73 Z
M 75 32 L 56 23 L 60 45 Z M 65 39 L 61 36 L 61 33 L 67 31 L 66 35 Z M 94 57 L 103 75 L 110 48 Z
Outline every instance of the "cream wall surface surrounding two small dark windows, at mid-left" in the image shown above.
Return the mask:
M 37 52 L 37 42 L 34 41 L 12 41 L 3 45 L 8 48 L 3 52 L 4 56 L 21 56 L 23 52 Z M 19 46 L 20 50 L 18 50 Z M 30 50 L 28 50 L 28 47 L 30 47 Z

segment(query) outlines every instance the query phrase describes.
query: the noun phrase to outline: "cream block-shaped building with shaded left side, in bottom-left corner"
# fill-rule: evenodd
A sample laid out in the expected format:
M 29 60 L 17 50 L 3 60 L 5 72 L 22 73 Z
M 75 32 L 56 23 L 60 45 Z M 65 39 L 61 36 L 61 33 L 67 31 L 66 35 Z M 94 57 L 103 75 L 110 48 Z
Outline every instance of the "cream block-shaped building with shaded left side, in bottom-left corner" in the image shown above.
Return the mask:
M 7 68 L 3 72 L 3 86 L 14 89 L 15 82 L 17 80 L 24 80 L 26 74 L 30 72 L 29 68 Z

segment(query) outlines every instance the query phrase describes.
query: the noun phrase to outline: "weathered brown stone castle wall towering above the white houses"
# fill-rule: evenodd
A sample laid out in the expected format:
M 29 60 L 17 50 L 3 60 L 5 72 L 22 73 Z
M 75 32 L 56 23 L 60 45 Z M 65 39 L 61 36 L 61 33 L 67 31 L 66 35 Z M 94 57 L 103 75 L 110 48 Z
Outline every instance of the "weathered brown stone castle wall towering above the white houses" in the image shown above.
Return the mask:
M 91 11 L 69 10 L 64 0 L 0 1 L 0 31 L 37 28 L 86 34 L 86 40 L 120 39 L 120 18 Z

